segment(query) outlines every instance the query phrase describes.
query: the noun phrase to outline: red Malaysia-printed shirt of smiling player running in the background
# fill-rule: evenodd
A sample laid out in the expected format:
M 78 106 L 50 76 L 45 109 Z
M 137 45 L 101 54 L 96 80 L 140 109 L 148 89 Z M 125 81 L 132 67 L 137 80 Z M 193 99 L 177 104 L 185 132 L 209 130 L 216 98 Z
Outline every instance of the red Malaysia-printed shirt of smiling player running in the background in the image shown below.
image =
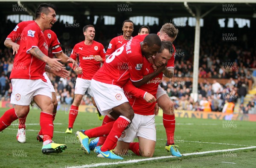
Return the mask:
M 101 63 L 95 61 L 94 56 L 100 55 L 104 60 L 105 53 L 102 43 L 97 41 L 93 41 L 92 45 L 85 45 L 84 41 L 77 43 L 71 52 L 70 58 L 76 60 L 76 57 L 79 57 L 79 67 L 83 69 L 83 72 L 82 74 L 78 74 L 78 78 L 91 80 L 93 75 L 99 70 Z

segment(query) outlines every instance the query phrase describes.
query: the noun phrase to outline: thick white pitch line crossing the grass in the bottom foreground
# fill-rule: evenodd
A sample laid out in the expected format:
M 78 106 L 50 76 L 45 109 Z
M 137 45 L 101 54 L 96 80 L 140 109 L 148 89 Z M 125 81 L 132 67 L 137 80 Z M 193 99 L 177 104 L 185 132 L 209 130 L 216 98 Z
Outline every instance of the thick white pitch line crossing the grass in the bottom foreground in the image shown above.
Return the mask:
M 256 148 L 256 146 L 245 147 L 245 148 L 215 150 L 215 151 L 195 152 L 195 153 L 183 154 L 183 156 L 210 154 L 210 153 L 226 152 L 226 151 L 237 151 L 237 150 L 252 149 L 252 148 Z M 159 160 L 159 159 L 168 159 L 168 158 L 172 158 L 172 157 L 175 157 L 175 156 L 161 156 L 161 157 L 152 157 L 152 158 L 146 158 L 146 159 L 133 159 L 133 160 L 119 161 L 119 162 L 105 162 L 105 163 L 96 163 L 96 164 L 72 166 L 72 167 L 66 166 L 65 168 L 91 168 L 91 167 L 106 166 L 106 165 L 119 165 L 119 164 L 137 163 L 137 162 Z

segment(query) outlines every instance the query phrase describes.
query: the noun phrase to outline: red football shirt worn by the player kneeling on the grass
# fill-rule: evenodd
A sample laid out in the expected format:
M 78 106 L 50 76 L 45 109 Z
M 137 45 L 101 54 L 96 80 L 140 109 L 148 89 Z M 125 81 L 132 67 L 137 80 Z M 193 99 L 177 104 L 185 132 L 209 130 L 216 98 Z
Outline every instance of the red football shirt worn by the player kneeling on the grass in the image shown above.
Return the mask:
M 150 64 L 147 59 L 143 58 L 143 67 L 142 73 L 143 76 L 148 75 L 154 72 L 152 64 Z M 161 83 L 163 77 L 163 73 L 159 73 L 156 77 L 143 84 L 139 88 L 135 87 L 131 81 L 128 81 L 123 87 L 125 96 L 128 98 L 129 103 L 131 104 L 134 113 L 140 115 L 153 115 L 155 103 L 148 103 L 144 100 L 144 95 L 146 92 L 153 95 L 155 98 L 157 97 L 157 87 Z

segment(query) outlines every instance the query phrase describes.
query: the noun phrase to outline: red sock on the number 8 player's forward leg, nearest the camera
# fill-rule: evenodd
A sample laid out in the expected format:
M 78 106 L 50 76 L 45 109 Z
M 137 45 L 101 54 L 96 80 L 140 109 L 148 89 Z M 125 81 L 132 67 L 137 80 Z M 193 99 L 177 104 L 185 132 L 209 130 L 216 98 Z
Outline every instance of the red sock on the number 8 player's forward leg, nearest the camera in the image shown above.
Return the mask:
M 108 134 L 108 137 L 104 144 L 102 145 L 101 151 L 110 151 L 113 149 L 113 146 L 116 144 L 117 140 L 122 135 L 122 132 L 125 128 L 131 123 L 129 119 L 125 116 L 119 116 L 118 119 L 114 122 L 111 132 Z

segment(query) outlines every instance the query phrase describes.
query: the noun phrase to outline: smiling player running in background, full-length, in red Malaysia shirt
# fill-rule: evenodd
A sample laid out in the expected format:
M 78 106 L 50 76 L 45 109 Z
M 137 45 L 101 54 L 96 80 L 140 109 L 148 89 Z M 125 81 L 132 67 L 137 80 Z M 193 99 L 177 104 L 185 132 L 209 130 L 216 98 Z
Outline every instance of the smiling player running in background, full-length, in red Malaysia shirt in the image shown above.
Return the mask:
M 93 40 L 95 37 L 94 26 L 84 26 L 83 32 L 85 40 L 77 43 L 70 55 L 70 57 L 74 60 L 76 60 L 76 57 L 79 56 L 80 64 L 79 68 L 75 70 L 75 72 L 78 74 L 75 86 L 75 99 L 72 106 L 70 107 L 69 124 L 66 133 L 72 133 L 73 125 L 76 120 L 76 116 L 78 115 L 78 107 L 81 103 L 81 100 L 86 90 L 91 95 L 91 79 L 97 70 L 99 70 L 101 62 L 103 63 L 106 59 L 106 52 L 103 45 Z M 91 98 L 93 105 L 97 108 L 93 97 Z

